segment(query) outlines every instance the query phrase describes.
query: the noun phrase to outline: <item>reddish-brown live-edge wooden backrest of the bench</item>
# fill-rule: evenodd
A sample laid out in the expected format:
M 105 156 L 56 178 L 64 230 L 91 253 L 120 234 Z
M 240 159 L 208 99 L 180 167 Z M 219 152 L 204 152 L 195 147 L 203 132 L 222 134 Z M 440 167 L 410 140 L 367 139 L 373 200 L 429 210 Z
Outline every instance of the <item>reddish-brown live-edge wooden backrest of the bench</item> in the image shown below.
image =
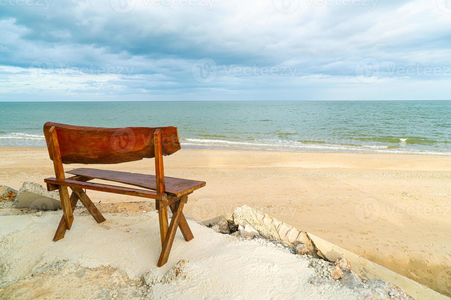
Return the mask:
M 160 129 L 162 154 L 180 149 L 177 127 L 101 128 L 47 122 L 44 135 L 53 160 L 49 130 L 55 127 L 64 164 L 116 164 L 155 157 L 154 132 Z

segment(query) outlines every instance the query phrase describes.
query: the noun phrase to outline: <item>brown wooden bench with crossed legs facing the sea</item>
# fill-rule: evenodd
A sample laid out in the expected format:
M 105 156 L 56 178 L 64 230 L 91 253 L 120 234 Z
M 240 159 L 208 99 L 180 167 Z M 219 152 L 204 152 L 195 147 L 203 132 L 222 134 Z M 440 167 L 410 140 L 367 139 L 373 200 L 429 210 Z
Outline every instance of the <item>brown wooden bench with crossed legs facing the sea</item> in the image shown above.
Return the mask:
M 159 267 L 168 260 L 177 227 L 180 228 L 185 241 L 193 238 L 183 215 L 183 207 L 188 201 L 188 195 L 204 187 L 205 182 L 164 176 L 163 156 L 180 149 L 176 127 L 98 128 L 47 122 L 44 125 L 44 135 L 55 168 L 55 178 L 46 178 L 44 181 L 49 191 L 59 191 L 63 207 L 63 216 L 53 237 L 55 242 L 62 239 L 66 230 L 72 227 L 78 200 L 97 223 L 105 221 L 83 189 L 155 199 L 162 248 L 157 264 Z M 63 164 L 117 164 L 153 157 L 155 175 L 91 168 L 64 172 L 63 168 Z M 66 178 L 64 173 L 74 176 Z M 89 182 L 92 179 L 119 182 L 139 188 Z M 68 187 L 72 190 L 70 196 Z M 169 226 L 168 207 L 172 211 Z

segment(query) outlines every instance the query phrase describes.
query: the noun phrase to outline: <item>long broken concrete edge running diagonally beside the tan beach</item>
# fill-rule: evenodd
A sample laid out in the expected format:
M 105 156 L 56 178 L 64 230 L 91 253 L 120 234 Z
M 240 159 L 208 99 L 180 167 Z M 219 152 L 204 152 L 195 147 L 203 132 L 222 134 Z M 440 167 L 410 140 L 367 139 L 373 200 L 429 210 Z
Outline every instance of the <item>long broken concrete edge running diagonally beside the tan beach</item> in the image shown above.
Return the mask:
M 383 281 L 391 282 L 392 284 L 402 288 L 406 293 L 415 299 L 450 299 L 428 287 L 424 287 L 410 278 L 406 278 L 370 260 L 364 259 L 363 257 L 336 246 L 335 244 L 317 237 L 312 233 L 294 228 L 249 206 L 239 206 L 235 208 L 233 213 L 220 215 L 212 219 L 205 220 L 202 223 L 207 227 L 212 227 L 213 224 L 221 219 L 226 219 L 235 223 L 235 225 L 240 225 L 242 227 L 249 224 L 263 237 L 280 241 L 285 245 L 292 246 L 294 248 L 296 248 L 299 244 L 305 244 L 313 257 L 322 258 L 330 262 L 335 262 L 339 257 L 345 257 L 350 261 L 352 269 L 356 273 L 360 273 L 366 278 L 379 278 Z

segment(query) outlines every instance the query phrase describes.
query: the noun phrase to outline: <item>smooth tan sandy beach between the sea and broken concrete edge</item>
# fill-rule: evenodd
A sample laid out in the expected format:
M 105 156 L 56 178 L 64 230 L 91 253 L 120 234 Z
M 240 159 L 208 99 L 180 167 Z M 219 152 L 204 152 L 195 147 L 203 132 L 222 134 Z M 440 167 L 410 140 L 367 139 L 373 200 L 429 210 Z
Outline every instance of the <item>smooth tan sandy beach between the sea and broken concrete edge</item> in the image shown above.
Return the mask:
M 185 206 L 195 219 L 245 204 L 446 292 L 437 278 L 451 270 L 451 156 L 182 149 L 164 163 L 166 176 L 207 182 Z M 0 184 L 15 189 L 54 176 L 46 148 L 0 148 L 0 166 Z M 152 174 L 154 161 L 88 167 Z

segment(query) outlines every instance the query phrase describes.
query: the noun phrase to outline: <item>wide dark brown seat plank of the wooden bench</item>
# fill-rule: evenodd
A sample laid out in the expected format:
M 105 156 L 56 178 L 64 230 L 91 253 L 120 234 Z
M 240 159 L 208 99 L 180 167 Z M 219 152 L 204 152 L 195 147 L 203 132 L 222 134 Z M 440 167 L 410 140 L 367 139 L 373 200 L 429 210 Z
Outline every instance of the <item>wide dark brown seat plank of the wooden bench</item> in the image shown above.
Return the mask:
M 121 171 L 99 170 L 91 168 L 78 168 L 66 171 L 72 175 L 80 175 L 91 178 L 120 182 L 123 184 L 136 185 L 141 188 L 148 188 L 156 191 L 155 175 L 146 175 L 139 173 L 129 173 Z M 191 179 L 181 179 L 165 176 L 165 193 L 175 197 L 182 197 L 188 193 L 205 186 L 204 181 Z

